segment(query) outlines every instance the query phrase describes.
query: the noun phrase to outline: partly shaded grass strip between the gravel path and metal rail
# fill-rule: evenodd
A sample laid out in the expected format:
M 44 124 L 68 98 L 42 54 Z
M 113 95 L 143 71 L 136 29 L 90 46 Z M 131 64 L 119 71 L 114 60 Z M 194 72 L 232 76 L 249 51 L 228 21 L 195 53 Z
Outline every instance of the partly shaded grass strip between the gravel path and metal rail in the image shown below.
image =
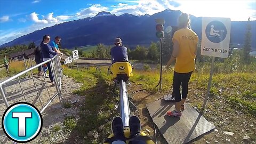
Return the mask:
M 86 98 L 80 108 L 75 130 L 81 137 L 90 131 L 99 132 L 99 139 L 86 139 L 85 143 L 103 143 L 111 130 L 110 122 L 106 123 L 105 120 L 117 115 L 114 107 L 119 99 L 116 97 L 118 93 L 114 89 L 114 83 L 110 82 L 111 77 L 103 71 L 107 70 L 102 70 L 100 74 L 96 73 L 95 68 L 88 71 L 64 69 L 65 75 L 74 77 L 76 82 L 81 83 L 81 88 L 74 93 Z

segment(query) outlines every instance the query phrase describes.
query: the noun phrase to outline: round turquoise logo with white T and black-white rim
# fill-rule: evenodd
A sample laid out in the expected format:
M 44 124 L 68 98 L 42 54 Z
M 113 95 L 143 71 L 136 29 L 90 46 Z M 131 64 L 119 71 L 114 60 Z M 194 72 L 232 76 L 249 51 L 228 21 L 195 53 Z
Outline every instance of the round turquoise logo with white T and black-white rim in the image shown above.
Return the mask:
M 27 102 L 17 102 L 4 111 L 2 127 L 15 142 L 29 142 L 42 130 L 43 118 L 39 110 Z

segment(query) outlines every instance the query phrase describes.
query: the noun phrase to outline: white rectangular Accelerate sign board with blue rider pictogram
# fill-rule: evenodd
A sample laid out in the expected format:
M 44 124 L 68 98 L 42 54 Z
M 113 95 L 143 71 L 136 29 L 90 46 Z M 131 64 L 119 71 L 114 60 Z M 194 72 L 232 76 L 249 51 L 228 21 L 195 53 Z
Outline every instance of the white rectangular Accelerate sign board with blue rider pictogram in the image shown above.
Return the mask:
M 201 54 L 227 58 L 230 42 L 230 18 L 203 18 Z

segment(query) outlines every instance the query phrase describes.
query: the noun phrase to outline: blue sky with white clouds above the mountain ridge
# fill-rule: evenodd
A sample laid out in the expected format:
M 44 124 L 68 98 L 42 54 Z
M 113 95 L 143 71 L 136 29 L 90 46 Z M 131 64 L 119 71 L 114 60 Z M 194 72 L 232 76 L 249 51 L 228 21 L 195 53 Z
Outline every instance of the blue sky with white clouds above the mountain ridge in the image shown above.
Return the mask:
M 133 15 L 180 10 L 195 17 L 256 20 L 256 1 L 238 0 L 0 0 L 0 45 L 35 30 L 70 20 L 94 17 L 98 12 Z

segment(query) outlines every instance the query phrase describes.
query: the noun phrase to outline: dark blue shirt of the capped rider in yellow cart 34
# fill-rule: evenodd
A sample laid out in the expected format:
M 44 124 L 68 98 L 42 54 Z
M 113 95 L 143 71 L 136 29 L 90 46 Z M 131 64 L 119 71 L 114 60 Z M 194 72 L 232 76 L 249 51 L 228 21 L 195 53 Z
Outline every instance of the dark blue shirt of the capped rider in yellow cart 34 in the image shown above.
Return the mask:
M 110 55 L 111 57 L 111 62 L 123 62 L 128 60 L 128 55 L 127 55 L 127 48 L 125 46 L 114 46 L 110 50 Z

